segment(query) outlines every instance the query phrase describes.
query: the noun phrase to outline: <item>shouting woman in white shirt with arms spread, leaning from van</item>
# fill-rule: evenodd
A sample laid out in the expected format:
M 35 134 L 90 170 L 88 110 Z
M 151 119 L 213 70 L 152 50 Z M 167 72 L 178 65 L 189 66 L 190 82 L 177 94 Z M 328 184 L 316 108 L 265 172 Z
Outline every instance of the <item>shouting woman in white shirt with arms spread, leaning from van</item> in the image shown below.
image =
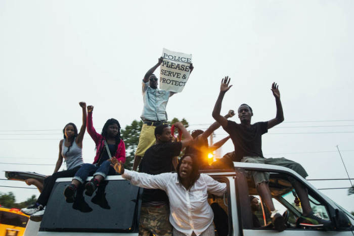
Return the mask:
M 149 175 L 124 170 L 118 160 L 111 159 L 112 166 L 131 184 L 144 188 L 158 188 L 166 192 L 169 200 L 169 221 L 173 235 L 215 235 L 213 212 L 208 204 L 208 192 L 222 196 L 226 183 L 220 183 L 207 174 L 200 174 L 193 155 L 184 155 L 177 173 Z M 193 235 L 194 235 L 193 234 Z M 160 234 L 161 235 L 161 234 Z

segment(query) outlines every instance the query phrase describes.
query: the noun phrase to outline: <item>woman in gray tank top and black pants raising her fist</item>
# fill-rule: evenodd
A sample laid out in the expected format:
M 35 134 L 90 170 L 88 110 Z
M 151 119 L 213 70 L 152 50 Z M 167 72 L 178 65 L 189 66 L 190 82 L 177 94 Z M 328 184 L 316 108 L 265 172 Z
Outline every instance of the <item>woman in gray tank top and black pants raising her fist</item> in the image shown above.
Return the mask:
M 83 165 L 82 160 L 82 140 L 86 130 L 86 103 L 80 102 L 82 108 L 82 125 L 80 132 L 77 133 L 77 128 L 74 123 L 68 123 L 64 129 L 64 139 L 59 142 L 59 158 L 54 169 L 54 173 L 44 180 L 43 190 L 40 193 L 37 202 L 27 208 L 22 208 L 21 212 L 31 215 L 33 221 L 41 221 L 45 212 L 45 207 L 48 203 L 49 196 L 52 192 L 55 181 L 58 178 L 73 177 L 76 171 Z M 66 163 L 66 170 L 59 171 L 63 159 Z

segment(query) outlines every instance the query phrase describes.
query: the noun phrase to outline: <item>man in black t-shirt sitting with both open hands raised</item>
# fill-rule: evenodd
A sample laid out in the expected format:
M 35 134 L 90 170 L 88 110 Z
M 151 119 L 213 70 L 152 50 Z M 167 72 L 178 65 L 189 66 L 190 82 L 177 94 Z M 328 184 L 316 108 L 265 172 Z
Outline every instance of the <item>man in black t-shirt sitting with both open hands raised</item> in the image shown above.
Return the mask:
M 235 146 L 235 160 L 233 161 L 283 166 L 294 170 L 305 178 L 307 173 L 300 164 L 285 158 L 266 159 L 262 153 L 261 136 L 264 133 L 267 133 L 268 129 L 271 129 L 284 121 L 278 85 L 273 83 L 271 89 L 277 106 L 276 117 L 268 122 L 257 122 L 251 125 L 253 111 L 247 104 L 241 104 L 238 108 L 238 117 L 241 124 L 228 121 L 224 116 L 220 115 L 224 95 L 232 87 L 232 85 L 229 86 L 229 83 L 230 78 L 228 76 L 223 78 L 220 86 L 220 93 L 215 103 L 212 116 L 218 123 L 220 123 L 220 125 L 223 126 L 224 130 L 230 134 Z M 286 228 L 284 218 L 279 211 L 274 208 L 271 191 L 268 185 L 270 174 L 267 172 L 252 172 L 251 175 L 253 176 L 257 191 L 262 198 L 262 201 L 265 203 L 268 210 L 272 212 L 271 218 L 275 228 L 279 231 L 283 231 Z M 292 181 L 292 184 L 302 204 L 303 216 L 301 218 L 315 225 L 328 224 L 328 220 L 324 220 L 312 211 L 308 201 L 306 189 L 297 181 Z

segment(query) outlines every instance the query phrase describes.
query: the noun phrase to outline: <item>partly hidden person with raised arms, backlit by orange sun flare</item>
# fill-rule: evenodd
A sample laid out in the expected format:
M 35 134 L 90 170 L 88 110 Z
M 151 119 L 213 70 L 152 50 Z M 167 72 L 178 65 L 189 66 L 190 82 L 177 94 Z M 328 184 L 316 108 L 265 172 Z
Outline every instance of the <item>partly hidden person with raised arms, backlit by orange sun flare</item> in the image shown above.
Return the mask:
M 231 118 L 235 115 L 233 110 L 229 110 L 229 112 L 224 116 L 226 119 Z M 214 143 L 213 145 L 208 144 L 208 137 L 214 132 L 216 129 L 220 127 L 220 124 L 214 122 L 211 126 L 205 131 L 202 130 L 194 130 L 192 132 L 193 144 L 186 148 L 185 154 L 193 154 L 196 156 L 198 160 L 199 170 L 209 169 L 208 164 L 208 153 L 213 152 L 219 147 L 223 146 L 226 141 L 229 140 L 230 136 L 223 138 L 222 140 Z

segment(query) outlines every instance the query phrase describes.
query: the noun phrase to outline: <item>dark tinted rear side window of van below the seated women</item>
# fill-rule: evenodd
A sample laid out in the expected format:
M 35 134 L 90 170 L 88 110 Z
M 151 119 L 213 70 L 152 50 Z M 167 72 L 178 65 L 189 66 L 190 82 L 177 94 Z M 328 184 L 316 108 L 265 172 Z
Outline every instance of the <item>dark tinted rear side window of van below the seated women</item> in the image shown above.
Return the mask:
M 129 181 L 103 181 L 92 196 L 84 194 L 81 184 L 74 203 L 67 203 L 63 195 L 68 184 L 54 186 L 39 231 L 129 232 L 135 228 L 139 188 Z

